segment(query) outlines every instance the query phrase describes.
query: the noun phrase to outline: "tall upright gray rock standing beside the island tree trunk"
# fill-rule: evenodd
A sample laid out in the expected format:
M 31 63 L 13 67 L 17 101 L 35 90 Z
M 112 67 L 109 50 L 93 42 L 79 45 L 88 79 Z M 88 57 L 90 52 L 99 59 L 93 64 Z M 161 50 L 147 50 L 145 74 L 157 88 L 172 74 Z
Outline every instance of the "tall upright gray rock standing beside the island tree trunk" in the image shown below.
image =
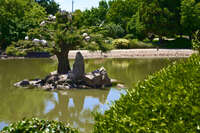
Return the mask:
M 85 74 L 84 58 L 80 52 L 76 53 L 76 58 L 73 64 L 72 73 L 73 73 L 72 79 L 75 81 L 82 79 L 82 77 Z

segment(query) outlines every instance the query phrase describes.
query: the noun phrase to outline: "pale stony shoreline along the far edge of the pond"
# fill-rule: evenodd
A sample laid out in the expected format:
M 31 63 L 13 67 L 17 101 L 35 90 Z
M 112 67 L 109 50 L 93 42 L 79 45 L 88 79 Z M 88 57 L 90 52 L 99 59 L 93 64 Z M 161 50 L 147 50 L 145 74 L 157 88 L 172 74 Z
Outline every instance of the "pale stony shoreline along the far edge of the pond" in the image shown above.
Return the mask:
M 98 58 L 187 58 L 197 51 L 192 49 L 118 49 L 111 50 L 107 53 L 100 51 L 91 52 L 88 50 L 71 50 L 69 52 L 69 59 L 75 59 L 76 53 L 81 52 L 85 59 L 98 59 Z M 39 57 L 43 58 L 43 57 Z M 50 57 L 56 59 L 56 56 Z M 0 59 L 33 59 L 30 57 L 14 57 L 2 56 Z

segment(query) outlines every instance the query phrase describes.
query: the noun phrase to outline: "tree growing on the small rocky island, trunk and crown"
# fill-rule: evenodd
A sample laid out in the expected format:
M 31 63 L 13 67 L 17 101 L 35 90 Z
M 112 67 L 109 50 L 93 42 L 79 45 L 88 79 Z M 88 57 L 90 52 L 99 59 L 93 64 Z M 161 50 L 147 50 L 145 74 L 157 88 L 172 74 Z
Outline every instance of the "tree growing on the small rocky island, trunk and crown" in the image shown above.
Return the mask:
M 58 74 L 66 74 L 70 71 L 70 64 L 68 59 L 68 54 L 70 50 L 75 50 L 82 45 L 87 45 L 91 47 L 91 50 L 108 50 L 104 44 L 102 38 L 98 36 L 90 36 L 90 40 L 86 41 L 84 37 L 80 34 L 76 27 L 73 26 L 72 14 L 68 12 L 58 12 L 56 13 L 56 22 L 49 23 L 52 24 L 54 29 L 44 29 L 45 31 L 51 32 L 51 40 L 53 41 L 51 47 L 51 52 L 57 56 L 58 59 Z M 41 27 L 42 29 L 42 27 Z M 94 48 L 95 47 L 95 48 Z

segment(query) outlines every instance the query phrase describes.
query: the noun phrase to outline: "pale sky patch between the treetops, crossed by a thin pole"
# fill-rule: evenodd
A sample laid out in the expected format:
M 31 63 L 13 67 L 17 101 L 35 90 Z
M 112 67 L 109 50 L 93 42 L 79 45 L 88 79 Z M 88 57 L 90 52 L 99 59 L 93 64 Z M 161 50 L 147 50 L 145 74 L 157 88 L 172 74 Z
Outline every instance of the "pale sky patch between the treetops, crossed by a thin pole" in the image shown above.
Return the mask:
M 72 0 L 55 0 L 60 4 L 60 8 L 66 11 L 72 11 Z M 100 0 L 74 0 L 74 10 L 76 9 L 90 9 L 97 7 Z

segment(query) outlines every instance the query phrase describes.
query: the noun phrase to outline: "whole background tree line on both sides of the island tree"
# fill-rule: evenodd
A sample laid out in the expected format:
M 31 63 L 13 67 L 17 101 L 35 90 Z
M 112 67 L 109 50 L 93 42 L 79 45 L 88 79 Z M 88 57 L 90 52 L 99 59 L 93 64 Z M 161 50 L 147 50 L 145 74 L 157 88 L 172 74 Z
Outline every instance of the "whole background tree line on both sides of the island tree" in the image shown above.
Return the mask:
M 48 14 L 58 11 L 54 0 L 1 0 L 0 47 L 24 39 Z M 76 10 L 72 16 L 76 29 L 114 39 L 192 39 L 200 29 L 200 0 L 101 0 L 98 7 Z

